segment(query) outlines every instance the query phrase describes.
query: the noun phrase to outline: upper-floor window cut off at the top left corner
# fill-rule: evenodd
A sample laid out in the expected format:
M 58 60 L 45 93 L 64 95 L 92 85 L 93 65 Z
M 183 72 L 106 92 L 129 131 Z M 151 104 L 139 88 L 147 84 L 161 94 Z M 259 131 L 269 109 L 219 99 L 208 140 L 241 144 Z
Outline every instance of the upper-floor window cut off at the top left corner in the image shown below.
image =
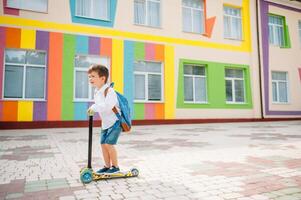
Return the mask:
M 47 12 L 48 0 L 7 0 L 6 7 Z

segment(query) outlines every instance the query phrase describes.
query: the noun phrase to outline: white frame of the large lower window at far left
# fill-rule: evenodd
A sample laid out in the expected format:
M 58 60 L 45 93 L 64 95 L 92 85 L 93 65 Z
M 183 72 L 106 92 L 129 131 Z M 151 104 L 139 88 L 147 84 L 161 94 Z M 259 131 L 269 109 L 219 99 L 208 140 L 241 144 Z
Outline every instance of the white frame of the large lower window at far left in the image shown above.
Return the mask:
M 5 52 L 6 50 L 16 50 L 16 51 L 26 51 L 26 56 L 27 56 L 27 52 L 28 51 L 35 51 L 35 52 L 42 52 L 45 53 L 45 65 L 35 65 L 35 64 L 27 64 L 26 63 L 26 59 L 27 57 L 25 57 L 25 63 L 24 64 L 20 64 L 20 63 L 6 63 L 5 61 Z M 2 99 L 3 100 L 22 100 L 22 101 L 47 101 L 46 99 L 46 89 L 47 89 L 47 70 L 48 70 L 48 66 L 47 66 L 47 51 L 44 50 L 35 50 L 35 49 L 22 49 L 22 48 L 5 48 L 4 49 L 4 58 L 3 58 L 3 80 L 2 80 Z M 18 67 L 23 67 L 23 82 L 22 82 L 22 98 L 12 98 L 12 97 L 5 97 L 4 96 L 4 90 L 5 90 L 5 70 L 6 70 L 6 65 L 10 65 L 10 66 L 18 66 Z M 25 97 L 25 89 L 26 89 L 26 70 L 27 67 L 34 67 L 34 68 L 44 68 L 44 97 L 43 98 L 26 98 Z

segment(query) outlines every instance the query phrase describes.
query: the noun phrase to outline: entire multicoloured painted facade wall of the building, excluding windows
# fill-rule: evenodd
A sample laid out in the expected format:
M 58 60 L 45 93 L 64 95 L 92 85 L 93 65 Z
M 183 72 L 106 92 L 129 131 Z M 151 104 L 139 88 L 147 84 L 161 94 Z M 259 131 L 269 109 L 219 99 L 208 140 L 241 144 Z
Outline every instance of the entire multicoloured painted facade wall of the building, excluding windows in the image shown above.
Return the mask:
M 0 99 L 0 122 L 86 120 L 86 109 L 91 102 L 77 102 L 73 97 L 76 54 L 109 58 L 111 81 L 115 82 L 115 89 L 128 98 L 133 119 L 261 118 L 254 1 L 204 0 L 205 32 L 202 34 L 182 30 L 182 23 L 178 23 L 182 21 L 181 0 L 161 2 L 162 26 L 153 28 L 133 23 L 133 1 L 113 0 L 110 20 L 102 21 L 76 17 L 74 0 L 48 1 L 47 13 L 10 9 L 5 6 L 6 0 L 1 0 L 0 98 L 3 96 L 3 56 L 6 48 L 45 51 L 47 81 L 45 101 Z M 223 36 L 222 13 L 225 5 L 241 9 L 241 39 Z M 285 17 L 286 45 L 283 48 L 271 47 L 268 43 L 269 13 Z M 264 117 L 301 115 L 300 48 L 296 46 L 299 38 L 293 31 L 293 24 L 299 15 L 299 8 L 260 1 Z M 289 63 L 284 63 L 285 60 Z M 162 63 L 162 102 L 134 101 L 135 61 Z M 184 64 L 205 66 L 207 103 L 184 102 Z M 227 67 L 244 71 L 243 103 L 226 102 Z M 289 69 L 292 75 L 290 94 L 293 101 L 289 105 L 271 103 L 271 70 L 281 69 Z

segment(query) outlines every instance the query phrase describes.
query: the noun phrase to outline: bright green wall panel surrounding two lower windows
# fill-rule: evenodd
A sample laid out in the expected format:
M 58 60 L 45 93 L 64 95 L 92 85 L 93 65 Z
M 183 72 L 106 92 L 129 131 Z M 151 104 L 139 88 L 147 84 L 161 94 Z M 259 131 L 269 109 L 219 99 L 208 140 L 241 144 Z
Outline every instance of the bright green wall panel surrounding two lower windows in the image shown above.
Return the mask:
M 184 64 L 196 64 L 196 65 L 205 66 L 206 81 L 207 81 L 207 103 L 184 102 L 184 72 L 183 72 Z M 226 102 L 226 87 L 225 87 L 226 68 L 239 68 L 244 70 L 245 103 L 230 104 Z M 179 76 L 178 76 L 177 108 L 251 109 L 253 108 L 251 94 L 252 92 L 251 92 L 251 84 L 250 84 L 250 72 L 249 72 L 249 66 L 247 65 L 180 59 Z

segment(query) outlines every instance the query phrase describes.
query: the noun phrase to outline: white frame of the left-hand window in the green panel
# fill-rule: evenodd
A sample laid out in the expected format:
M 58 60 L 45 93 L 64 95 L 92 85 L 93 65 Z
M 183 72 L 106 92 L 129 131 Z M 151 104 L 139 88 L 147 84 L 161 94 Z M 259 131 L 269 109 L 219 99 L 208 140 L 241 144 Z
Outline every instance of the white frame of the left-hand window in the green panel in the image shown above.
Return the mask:
M 185 70 L 183 69 L 183 80 L 185 80 L 185 77 L 192 77 L 192 88 L 193 88 L 193 101 L 186 101 L 185 100 L 185 92 L 184 92 L 184 103 L 191 103 L 191 104 L 208 104 L 208 79 L 207 79 L 207 69 L 206 69 L 206 66 L 205 65 L 194 65 L 194 64 L 185 64 L 183 65 L 183 68 L 185 68 L 185 66 L 197 66 L 197 67 L 203 67 L 204 70 L 205 70 L 205 75 L 194 75 L 194 74 L 185 74 Z M 196 101 L 195 100 L 195 79 L 196 78 L 205 78 L 205 82 L 206 82 L 206 101 Z M 184 86 L 183 86 L 184 90 L 185 90 L 185 83 L 184 83 Z

